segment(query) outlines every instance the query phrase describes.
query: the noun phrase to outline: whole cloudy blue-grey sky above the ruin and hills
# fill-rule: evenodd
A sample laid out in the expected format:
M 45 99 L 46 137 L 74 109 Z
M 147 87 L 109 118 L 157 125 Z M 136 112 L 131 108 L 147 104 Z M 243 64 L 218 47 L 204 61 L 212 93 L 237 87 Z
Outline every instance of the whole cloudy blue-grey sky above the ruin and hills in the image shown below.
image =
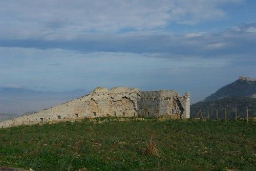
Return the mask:
M 0 0 L 0 87 L 126 86 L 203 100 L 256 77 L 256 1 Z

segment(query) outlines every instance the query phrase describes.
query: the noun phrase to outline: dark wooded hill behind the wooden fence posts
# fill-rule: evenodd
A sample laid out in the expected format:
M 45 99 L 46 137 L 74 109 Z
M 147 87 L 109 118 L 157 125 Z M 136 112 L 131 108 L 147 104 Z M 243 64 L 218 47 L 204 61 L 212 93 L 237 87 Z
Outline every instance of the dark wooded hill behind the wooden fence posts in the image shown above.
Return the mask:
M 219 118 L 224 118 L 227 109 L 227 118 L 233 119 L 237 108 L 238 117 L 245 117 L 246 109 L 249 116 L 256 116 L 256 79 L 239 77 L 238 80 L 220 88 L 214 94 L 206 97 L 190 106 L 190 116 L 195 117 L 201 111 L 203 116 L 207 116 L 207 110 L 211 118 L 216 117 L 218 109 Z

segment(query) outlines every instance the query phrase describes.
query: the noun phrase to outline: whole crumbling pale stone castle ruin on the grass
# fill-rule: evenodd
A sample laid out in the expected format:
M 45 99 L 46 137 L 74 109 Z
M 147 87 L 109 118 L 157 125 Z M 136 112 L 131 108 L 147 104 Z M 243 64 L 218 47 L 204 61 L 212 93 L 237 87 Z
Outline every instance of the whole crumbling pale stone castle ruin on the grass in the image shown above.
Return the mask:
M 185 96 L 174 90 L 145 91 L 116 87 L 111 90 L 96 88 L 90 94 L 57 106 L 0 122 L 0 129 L 68 119 L 119 117 L 189 118 L 189 93 Z

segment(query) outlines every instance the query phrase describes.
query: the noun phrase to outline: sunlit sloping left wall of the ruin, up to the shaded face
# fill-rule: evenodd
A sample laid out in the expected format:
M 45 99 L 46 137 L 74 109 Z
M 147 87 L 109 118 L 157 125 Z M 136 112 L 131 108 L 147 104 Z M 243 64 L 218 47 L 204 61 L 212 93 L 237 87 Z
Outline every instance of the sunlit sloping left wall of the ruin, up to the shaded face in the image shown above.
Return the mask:
M 0 128 L 73 118 L 137 116 L 138 89 L 96 88 L 92 93 L 52 108 L 0 122 Z

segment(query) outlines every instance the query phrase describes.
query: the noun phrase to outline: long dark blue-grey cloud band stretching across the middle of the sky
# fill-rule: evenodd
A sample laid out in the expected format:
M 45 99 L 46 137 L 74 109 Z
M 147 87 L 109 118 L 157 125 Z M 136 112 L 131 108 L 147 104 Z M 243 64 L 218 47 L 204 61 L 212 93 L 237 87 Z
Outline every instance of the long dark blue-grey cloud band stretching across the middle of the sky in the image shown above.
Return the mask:
M 179 58 L 187 56 L 226 56 L 243 54 L 250 58 L 255 54 L 256 34 L 251 27 L 227 29 L 220 32 L 199 32 L 189 34 L 85 34 L 76 39 L 9 40 L 0 41 L 2 47 L 28 47 L 37 49 L 67 49 L 82 53 L 130 52 L 134 54 L 161 53 L 161 57 Z M 248 32 L 248 28 L 250 32 Z M 238 30 L 239 29 L 239 30 Z M 57 38 L 57 36 L 56 36 Z M 176 54 L 169 55 L 169 54 Z M 8 55 L 7 55 L 8 56 Z M 53 62 L 53 64 L 58 62 Z M 56 66 L 56 65 L 55 65 Z

